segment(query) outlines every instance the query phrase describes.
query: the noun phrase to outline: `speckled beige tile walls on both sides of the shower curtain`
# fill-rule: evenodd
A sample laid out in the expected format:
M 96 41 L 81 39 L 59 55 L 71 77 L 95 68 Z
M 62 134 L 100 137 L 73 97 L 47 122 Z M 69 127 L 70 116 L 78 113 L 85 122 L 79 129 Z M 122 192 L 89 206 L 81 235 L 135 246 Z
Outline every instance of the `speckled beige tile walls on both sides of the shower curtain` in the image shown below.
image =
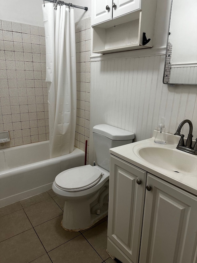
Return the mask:
M 90 134 L 91 18 L 75 23 L 77 124 L 75 146 Z M 0 149 L 49 139 L 44 28 L 0 20 Z M 88 163 L 88 154 L 87 154 Z

